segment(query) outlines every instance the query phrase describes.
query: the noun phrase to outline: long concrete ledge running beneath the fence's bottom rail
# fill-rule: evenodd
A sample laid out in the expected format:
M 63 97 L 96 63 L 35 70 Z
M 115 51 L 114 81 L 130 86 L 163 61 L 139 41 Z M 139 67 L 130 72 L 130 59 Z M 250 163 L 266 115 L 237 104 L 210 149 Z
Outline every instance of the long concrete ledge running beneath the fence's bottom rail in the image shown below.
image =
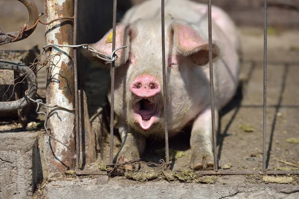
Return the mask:
M 100 179 L 101 178 L 101 179 Z M 298 199 L 299 187 L 277 184 L 204 185 L 168 182 L 133 182 L 99 179 L 52 181 L 46 185 L 47 199 Z

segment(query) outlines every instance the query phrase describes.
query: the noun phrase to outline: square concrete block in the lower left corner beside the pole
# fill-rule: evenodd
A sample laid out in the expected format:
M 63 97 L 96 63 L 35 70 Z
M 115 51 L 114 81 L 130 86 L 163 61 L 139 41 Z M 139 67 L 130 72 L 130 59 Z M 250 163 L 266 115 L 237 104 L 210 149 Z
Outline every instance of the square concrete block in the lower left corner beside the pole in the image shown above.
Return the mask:
M 37 132 L 0 133 L 0 198 L 32 198 L 42 179 Z

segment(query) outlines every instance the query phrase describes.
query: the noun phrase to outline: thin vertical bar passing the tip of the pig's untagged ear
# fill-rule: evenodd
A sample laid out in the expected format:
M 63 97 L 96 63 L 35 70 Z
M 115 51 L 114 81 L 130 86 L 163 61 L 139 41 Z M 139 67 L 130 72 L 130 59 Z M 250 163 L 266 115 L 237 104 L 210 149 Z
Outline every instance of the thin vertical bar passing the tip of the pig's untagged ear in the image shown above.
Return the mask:
M 215 124 L 215 94 L 213 77 L 213 51 L 212 51 L 212 3 L 208 0 L 208 32 L 209 32 L 209 67 L 210 67 L 210 92 L 211 92 L 211 111 L 212 111 L 212 133 L 213 133 L 213 154 L 214 171 L 218 171 L 217 143 L 216 143 L 216 124 Z

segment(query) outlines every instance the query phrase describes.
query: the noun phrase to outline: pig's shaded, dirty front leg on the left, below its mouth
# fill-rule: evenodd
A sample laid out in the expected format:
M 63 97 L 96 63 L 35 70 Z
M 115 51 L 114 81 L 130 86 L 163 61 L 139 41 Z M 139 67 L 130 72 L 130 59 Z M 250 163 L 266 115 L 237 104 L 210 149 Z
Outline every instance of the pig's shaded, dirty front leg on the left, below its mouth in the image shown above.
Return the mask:
M 139 159 L 146 147 L 146 138 L 138 135 L 133 129 L 128 128 L 128 125 L 121 122 L 119 132 L 122 139 L 122 146 L 115 157 L 117 163 L 125 163 L 131 160 Z M 126 164 L 126 170 L 138 169 L 139 165 L 134 168 L 132 165 Z

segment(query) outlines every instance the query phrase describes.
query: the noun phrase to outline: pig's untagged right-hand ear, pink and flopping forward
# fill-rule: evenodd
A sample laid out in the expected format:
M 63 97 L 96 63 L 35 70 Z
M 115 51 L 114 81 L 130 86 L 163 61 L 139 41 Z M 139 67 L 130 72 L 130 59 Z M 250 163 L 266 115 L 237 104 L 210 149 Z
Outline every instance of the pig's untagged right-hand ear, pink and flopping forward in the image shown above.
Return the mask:
M 200 35 L 191 26 L 173 23 L 171 25 L 173 32 L 174 45 L 177 47 L 177 53 L 183 56 L 190 56 L 191 60 L 199 66 L 204 66 L 209 62 L 209 44 L 203 40 Z M 215 43 L 212 44 L 213 61 L 220 55 L 220 49 Z

